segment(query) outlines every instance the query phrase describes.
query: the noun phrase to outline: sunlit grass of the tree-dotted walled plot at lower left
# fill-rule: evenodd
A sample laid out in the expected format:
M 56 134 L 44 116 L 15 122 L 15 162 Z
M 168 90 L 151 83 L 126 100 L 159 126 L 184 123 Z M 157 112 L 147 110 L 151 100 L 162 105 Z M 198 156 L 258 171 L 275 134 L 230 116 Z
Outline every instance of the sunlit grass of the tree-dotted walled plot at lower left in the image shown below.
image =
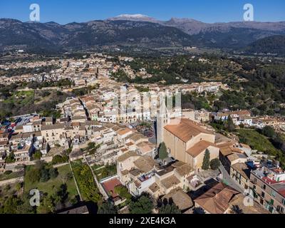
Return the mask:
M 28 169 L 30 169 L 31 166 L 26 167 L 26 171 L 28 171 Z M 26 178 L 24 180 L 24 191 L 25 192 L 29 192 L 31 189 L 38 189 L 42 192 L 46 192 L 48 193 L 48 195 L 53 195 L 54 193 L 56 193 L 56 190 L 58 190 L 58 188 L 63 185 L 63 178 L 64 175 L 68 174 L 68 172 L 71 173 L 71 169 L 69 167 L 69 165 L 64 165 L 61 167 L 58 167 L 58 177 L 56 177 L 55 179 L 50 179 L 47 182 L 29 182 Z M 78 195 L 78 192 L 76 190 L 76 184 L 73 180 L 73 178 L 71 180 L 68 180 L 66 182 L 67 185 L 67 192 L 68 192 L 68 199 L 73 199 L 74 197 L 76 197 L 76 195 Z

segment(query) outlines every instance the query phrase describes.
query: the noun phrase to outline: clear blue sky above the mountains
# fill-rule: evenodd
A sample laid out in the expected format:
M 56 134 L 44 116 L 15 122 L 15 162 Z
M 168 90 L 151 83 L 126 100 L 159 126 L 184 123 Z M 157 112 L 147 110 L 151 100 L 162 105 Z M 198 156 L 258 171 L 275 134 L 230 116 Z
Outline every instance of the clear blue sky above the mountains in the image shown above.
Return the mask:
M 146 14 L 160 20 L 192 18 L 207 23 L 242 21 L 247 3 L 254 6 L 254 21 L 285 21 L 284 0 L 0 0 L 0 18 L 28 21 L 33 3 L 41 7 L 41 22 L 59 24 L 119 14 Z

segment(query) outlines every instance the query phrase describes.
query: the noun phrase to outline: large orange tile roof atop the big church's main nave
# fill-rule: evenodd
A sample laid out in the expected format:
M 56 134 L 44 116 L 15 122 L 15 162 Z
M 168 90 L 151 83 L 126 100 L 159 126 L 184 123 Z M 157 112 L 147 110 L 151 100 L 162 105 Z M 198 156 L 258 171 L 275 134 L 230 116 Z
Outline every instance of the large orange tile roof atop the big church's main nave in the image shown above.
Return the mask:
M 183 142 L 191 140 L 192 137 L 195 137 L 200 133 L 212 134 L 209 130 L 202 128 L 198 123 L 184 118 L 182 118 L 177 125 L 166 125 L 165 129 Z

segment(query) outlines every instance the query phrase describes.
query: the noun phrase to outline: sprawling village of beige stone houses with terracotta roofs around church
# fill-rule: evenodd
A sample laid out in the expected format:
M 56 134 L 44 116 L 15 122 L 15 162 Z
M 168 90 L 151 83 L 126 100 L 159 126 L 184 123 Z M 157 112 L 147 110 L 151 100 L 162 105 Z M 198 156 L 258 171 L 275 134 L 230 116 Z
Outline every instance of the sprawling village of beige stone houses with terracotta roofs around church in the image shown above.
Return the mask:
M 223 135 L 209 125 L 212 120 L 226 122 L 230 118 L 236 128 L 270 126 L 283 132 L 284 119 L 254 116 L 249 110 L 213 113 L 182 109 L 177 104 L 167 108 L 165 94 L 179 98 L 179 93 L 215 94 L 230 88 L 219 82 L 171 86 L 119 83 L 110 78 L 120 68 L 110 58 L 95 54 L 79 61 L 58 61 L 60 67 L 50 73 L 1 77 L 0 83 L 7 85 L 64 79 L 74 82 L 73 89 L 98 88 L 58 103 L 60 118 L 26 113 L 1 124 L 0 177 L 7 172 L 21 175 L 0 178 L 0 187 L 24 182 L 22 171 L 38 160 L 52 163 L 54 157 L 67 157 L 59 163 L 81 161 L 90 167 L 103 199 L 120 208 L 119 213 L 129 210 L 128 199 L 116 191 L 118 186 L 125 187 L 132 197 L 147 193 L 155 200 L 172 199 L 183 214 L 237 213 L 233 208 L 245 214 L 284 213 L 285 172 L 279 162 L 239 142 L 236 135 Z M 9 68 L 55 62 L 14 63 Z M 123 71 L 132 76 L 131 69 Z M 107 175 L 100 170 L 107 170 Z M 77 189 L 81 195 L 80 187 Z M 81 209 L 87 213 L 85 206 Z

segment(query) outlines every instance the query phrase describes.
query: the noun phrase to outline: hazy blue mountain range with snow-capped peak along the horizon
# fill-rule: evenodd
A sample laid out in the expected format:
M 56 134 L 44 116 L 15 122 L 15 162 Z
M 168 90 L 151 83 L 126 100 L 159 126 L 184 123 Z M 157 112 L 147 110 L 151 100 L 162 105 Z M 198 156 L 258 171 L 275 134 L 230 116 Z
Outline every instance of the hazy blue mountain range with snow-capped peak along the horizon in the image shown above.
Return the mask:
M 142 14 L 122 14 L 104 21 L 66 25 L 0 19 L 1 51 L 19 47 L 28 51 L 73 51 L 100 46 L 235 49 L 245 48 L 262 38 L 280 35 L 285 35 L 285 21 L 207 24 L 194 19 L 159 21 Z

